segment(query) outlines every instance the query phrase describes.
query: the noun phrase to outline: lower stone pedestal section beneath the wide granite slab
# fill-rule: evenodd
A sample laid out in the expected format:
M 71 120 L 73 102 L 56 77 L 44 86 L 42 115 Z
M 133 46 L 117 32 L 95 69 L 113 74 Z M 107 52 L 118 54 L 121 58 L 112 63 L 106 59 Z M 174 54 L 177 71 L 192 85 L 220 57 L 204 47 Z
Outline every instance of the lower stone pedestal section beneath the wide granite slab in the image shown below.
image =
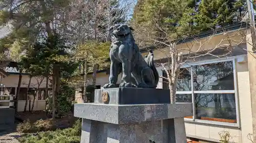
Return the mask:
M 183 118 L 110 124 L 83 119 L 81 143 L 186 143 Z

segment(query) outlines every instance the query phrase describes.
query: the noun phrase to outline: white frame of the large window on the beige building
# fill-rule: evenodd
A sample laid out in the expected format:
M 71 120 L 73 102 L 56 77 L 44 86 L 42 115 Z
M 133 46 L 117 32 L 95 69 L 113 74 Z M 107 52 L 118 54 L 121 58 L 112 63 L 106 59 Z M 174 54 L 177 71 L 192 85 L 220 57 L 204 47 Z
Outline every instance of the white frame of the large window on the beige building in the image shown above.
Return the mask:
M 243 55 L 238 56 L 231 56 L 228 58 L 221 58 L 221 59 L 212 59 L 212 60 L 205 60 L 193 63 L 186 63 L 186 65 L 181 66 L 180 68 L 190 68 L 190 72 L 193 73 L 193 66 L 198 65 L 205 65 L 205 64 L 215 64 L 221 62 L 232 62 L 233 66 L 233 83 L 234 83 L 234 90 L 218 90 L 218 91 L 194 91 L 194 83 L 191 82 L 191 91 L 177 91 L 176 94 L 191 94 L 192 104 L 193 104 L 193 118 L 184 118 L 185 122 L 193 122 L 193 123 L 202 123 L 202 124 L 212 124 L 212 125 L 223 125 L 223 126 L 230 126 L 230 127 L 238 127 L 240 128 L 240 111 L 239 111 L 239 101 L 238 101 L 238 84 L 237 84 L 237 69 L 236 63 L 237 59 Z M 162 71 L 164 72 L 164 71 Z M 191 74 L 191 79 L 194 78 L 194 74 Z M 195 106 L 195 94 L 234 94 L 234 99 L 236 100 L 236 120 L 237 123 L 227 123 L 227 122 L 218 122 L 218 121 L 207 121 L 207 120 L 200 120 L 196 119 L 196 106 Z

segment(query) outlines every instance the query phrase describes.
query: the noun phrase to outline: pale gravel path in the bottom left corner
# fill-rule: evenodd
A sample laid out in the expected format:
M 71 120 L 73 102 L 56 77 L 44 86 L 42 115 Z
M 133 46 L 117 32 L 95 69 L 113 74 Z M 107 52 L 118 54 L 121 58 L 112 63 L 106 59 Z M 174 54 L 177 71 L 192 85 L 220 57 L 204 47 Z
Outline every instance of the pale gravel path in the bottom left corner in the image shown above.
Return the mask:
M 1 133 L 0 134 L 0 143 L 20 143 L 16 138 L 19 137 L 20 134 L 17 132 L 12 133 Z

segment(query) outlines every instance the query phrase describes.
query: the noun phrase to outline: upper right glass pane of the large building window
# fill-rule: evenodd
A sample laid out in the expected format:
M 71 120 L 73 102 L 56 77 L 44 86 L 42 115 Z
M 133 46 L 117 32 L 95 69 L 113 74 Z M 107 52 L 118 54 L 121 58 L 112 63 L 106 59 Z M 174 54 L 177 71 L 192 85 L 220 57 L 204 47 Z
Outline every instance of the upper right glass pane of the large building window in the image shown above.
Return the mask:
M 234 90 L 233 63 L 193 66 L 195 91 Z

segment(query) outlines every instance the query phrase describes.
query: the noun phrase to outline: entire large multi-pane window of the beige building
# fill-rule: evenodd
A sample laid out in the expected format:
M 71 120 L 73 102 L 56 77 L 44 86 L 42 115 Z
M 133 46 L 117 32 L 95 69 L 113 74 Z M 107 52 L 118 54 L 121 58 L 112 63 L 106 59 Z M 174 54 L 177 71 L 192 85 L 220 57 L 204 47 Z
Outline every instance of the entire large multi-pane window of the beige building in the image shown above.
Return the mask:
M 195 102 L 194 117 L 187 118 L 237 123 L 233 66 L 226 61 L 180 69 L 176 102 Z M 168 89 L 168 84 L 163 87 Z

